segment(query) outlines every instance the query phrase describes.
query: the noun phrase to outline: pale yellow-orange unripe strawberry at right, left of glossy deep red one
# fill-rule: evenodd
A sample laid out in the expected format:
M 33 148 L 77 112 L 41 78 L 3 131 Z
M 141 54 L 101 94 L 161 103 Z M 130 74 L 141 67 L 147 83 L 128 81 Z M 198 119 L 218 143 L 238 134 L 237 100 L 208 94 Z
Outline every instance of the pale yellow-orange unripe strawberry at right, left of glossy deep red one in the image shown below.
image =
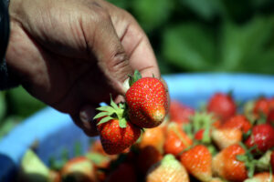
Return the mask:
M 242 140 L 243 133 L 237 128 L 218 128 L 212 132 L 212 140 L 219 149 L 224 149 Z

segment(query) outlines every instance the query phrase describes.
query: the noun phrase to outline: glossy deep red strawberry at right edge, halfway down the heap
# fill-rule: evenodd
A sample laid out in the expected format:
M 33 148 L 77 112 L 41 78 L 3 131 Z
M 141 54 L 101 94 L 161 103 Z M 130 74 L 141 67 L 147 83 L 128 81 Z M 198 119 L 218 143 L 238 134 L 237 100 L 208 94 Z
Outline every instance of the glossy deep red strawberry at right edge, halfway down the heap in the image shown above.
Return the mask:
M 274 128 L 269 124 L 253 126 L 252 133 L 248 136 L 245 144 L 248 147 L 256 145 L 258 151 L 266 152 L 269 148 L 274 147 Z

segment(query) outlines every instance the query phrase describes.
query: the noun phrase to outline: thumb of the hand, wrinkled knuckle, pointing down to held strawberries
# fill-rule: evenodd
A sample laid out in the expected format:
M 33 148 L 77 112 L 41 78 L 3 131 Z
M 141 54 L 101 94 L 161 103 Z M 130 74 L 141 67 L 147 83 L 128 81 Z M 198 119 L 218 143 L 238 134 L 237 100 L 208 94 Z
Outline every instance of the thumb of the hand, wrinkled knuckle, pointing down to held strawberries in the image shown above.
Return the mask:
M 133 69 L 130 65 L 121 40 L 111 22 L 111 17 L 106 11 L 101 10 L 97 22 L 97 27 L 91 33 L 90 24 L 85 25 L 88 49 L 91 56 L 95 56 L 100 72 L 105 76 L 106 81 L 117 94 L 124 95 L 125 88 L 123 83 L 132 75 Z M 94 21 L 94 20 L 93 20 Z M 94 26 L 94 25 L 92 25 Z M 94 28 L 93 28 L 94 29 Z

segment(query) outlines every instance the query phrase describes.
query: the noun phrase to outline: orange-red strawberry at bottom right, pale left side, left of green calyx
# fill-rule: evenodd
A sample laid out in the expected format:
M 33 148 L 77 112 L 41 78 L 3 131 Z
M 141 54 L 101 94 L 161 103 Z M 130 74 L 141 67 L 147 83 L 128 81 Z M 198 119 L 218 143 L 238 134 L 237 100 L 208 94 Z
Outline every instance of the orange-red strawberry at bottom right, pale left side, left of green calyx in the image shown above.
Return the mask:
M 245 149 L 237 144 L 221 150 L 212 160 L 215 176 L 228 181 L 243 181 L 248 177 L 245 163 L 237 160 L 237 155 L 244 155 Z

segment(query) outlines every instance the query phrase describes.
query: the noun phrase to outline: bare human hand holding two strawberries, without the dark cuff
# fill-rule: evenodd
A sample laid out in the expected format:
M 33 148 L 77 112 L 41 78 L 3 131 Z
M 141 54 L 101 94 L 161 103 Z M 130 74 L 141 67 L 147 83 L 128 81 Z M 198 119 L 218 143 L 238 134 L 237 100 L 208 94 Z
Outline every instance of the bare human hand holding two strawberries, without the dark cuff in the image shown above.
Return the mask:
M 9 70 L 32 95 L 72 116 L 89 136 L 100 102 L 123 96 L 137 69 L 160 77 L 132 15 L 103 0 L 11 0 Z

